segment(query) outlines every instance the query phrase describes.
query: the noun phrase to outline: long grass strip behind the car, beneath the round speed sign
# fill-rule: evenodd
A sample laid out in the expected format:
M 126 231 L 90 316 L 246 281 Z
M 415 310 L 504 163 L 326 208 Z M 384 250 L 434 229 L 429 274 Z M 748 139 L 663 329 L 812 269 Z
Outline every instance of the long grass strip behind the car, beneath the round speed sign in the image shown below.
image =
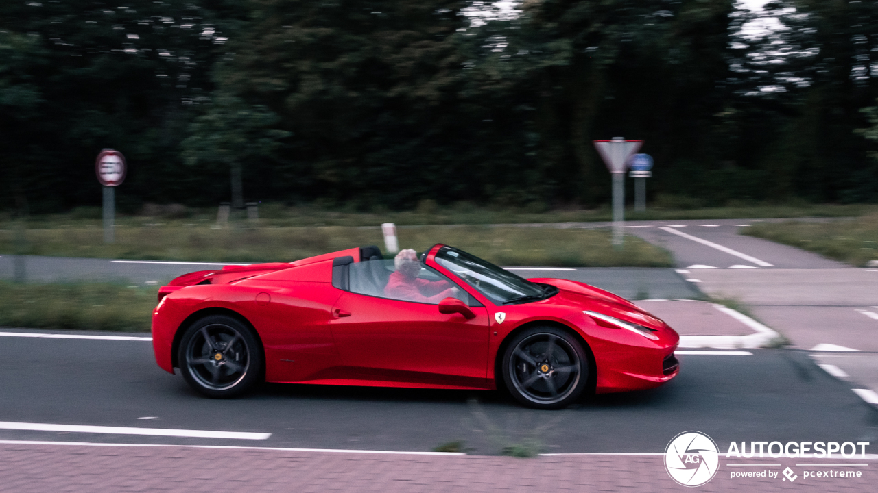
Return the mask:
M 378 227 L 120 226 L 104 245 L 97 227 L 30 229 L 23 253 L 68 257 L 173 261 L 294 261 L 363 245 L 383 246 Z M 399 230 L 399 245 L 424 250 L 435 243 L 461 247 L 500 265 L 670 267 L 671 255 L 637 237 L 622 250 L 607 230 L 428 225 Z M 0 231 L 0 254 L 22 253 L 16 232 Z

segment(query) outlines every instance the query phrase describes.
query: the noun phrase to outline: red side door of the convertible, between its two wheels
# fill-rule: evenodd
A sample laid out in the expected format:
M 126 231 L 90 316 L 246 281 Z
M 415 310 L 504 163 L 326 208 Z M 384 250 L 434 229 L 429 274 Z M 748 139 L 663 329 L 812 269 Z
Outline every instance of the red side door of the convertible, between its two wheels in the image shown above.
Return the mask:
M 387 265 L 386 261 L 373 262 Z M 356 268 L 369 270 L 364 265 Z M 330 322 L 346 374 L 372 384 L 486 388 L 488 316 L 484 306 L 471 303 L 479 304 L 470 307 L 473 318 L 443 314 L 438 300 L 418 303 L 384 297 L 380 286 L 384 280 L 375 289 L 358 288 L 363 283 L 357 282 L 356 270 L 351 269 L 349 290 L 335 303 L 335 318 Z M 423 276 L 455 286 L 432 268 L 424 268 Z M 469 300 L 465 291 L 460 293 L 459 297 Z

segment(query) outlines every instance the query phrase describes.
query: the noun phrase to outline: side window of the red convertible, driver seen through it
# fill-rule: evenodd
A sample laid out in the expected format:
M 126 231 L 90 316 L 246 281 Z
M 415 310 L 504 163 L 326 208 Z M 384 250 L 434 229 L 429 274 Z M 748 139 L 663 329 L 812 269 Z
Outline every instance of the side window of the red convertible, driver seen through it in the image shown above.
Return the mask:
M 466 304 L 470 296 L 447 277 L 421 266 L 414 277 L 397 272 L 392 260 L 359 261 L 349 265 L 349 290 L 370 297 L 439 304 L 453 297 Z

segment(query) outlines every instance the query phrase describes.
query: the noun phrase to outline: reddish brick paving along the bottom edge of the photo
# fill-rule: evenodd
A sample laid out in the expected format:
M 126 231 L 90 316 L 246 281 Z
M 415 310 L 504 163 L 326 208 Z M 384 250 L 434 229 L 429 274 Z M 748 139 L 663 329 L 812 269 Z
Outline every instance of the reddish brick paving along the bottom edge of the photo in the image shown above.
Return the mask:
M 658 455 L 556 455 L 531 459 L 474 455 L 304 452 L 198 447 L 0 444 L 0 491 L 30 492 L 406 492 L 692 491 L 674 483 Z M 860 478 L 729 477 L 720 467 L 695 490 L 875 491 L 874 460 Z M 799 460 L 801 461 L 801 460 Z M 740 460 L 736 461 L 740 462 Z M 836 461 L 838 462 L 838 460 Z M 724 462 L 723 462 L 724 463 Z M 825 468 L 816 468 L 825 469 Z M 748 468 L 759 470 L 759 468 Z M 782 475 L 780 476 L 783 477 Z

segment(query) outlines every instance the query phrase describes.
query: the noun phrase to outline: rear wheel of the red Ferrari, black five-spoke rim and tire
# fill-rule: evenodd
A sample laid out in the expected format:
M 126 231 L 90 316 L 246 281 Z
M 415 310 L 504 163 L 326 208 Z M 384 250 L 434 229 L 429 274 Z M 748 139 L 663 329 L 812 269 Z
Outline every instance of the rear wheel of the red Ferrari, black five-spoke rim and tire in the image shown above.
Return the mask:
M 207 397 L 237 397 L 261 380 L 263 352 L 253 330 L 237 318 L 211 315 L 190 325 L 180 339 L 180 371 Z

